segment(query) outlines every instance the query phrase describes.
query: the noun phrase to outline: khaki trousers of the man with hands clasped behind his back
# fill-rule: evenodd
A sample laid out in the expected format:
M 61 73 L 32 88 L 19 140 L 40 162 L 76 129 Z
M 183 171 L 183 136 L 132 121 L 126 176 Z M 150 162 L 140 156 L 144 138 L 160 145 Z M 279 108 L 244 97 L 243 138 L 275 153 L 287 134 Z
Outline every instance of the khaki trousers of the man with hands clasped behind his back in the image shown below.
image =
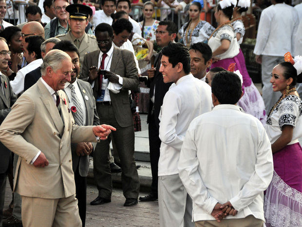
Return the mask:
M 248 215 L 245 218 L 223 219 L 221 222 L 216 220 L 206 220 L 195 222 L 195 227 L 263 227 L 263 221 Z

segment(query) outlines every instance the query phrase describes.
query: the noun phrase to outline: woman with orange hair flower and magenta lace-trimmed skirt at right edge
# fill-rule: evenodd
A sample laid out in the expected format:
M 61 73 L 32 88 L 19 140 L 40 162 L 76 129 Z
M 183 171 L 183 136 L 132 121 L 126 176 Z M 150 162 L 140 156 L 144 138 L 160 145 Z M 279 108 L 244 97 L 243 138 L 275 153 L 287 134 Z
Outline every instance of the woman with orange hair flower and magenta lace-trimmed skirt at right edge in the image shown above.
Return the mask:
M 289 52 L 274 67 L 270 83 L 282 93 L 271 109 L 265 130 L 272 144 L 274 174 L 264 199 L 266 227 L 302 224 L 302 101 L 296 83 L 302 82 L 302 57 Z M 293 65 L 294 64 L 294 65 Z M 295 67 L 296 66 L 296 67 Z

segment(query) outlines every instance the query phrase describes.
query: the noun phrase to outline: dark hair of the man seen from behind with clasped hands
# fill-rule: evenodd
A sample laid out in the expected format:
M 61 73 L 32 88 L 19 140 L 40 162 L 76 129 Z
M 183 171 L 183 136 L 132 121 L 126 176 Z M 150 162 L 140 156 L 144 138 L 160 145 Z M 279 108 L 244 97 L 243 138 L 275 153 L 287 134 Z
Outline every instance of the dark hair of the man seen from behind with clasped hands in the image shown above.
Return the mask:
M 212 80 L 212 93 L 220 104 L 236 104 L 242 94 L 242 85 L 239 76 L 229 71 L 215 74 Z

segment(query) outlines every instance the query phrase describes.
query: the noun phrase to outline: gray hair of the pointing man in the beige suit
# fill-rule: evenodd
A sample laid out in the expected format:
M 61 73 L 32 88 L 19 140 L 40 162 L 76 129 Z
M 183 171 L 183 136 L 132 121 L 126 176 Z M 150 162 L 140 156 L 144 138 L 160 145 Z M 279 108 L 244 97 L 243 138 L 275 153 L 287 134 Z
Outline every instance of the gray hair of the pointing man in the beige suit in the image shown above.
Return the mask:
M 58 69 L 61 68 L 61 63 L 64 60 L 70 60 L 71 58 L 68 54 L 66 54 L 64 51 L 61 50 L 51 50 L 49 51 L 44 59 L 43 63 L 41 64 L 41 74 L 42 76 L 46 75 L 46 68 L 51 67 L 55 72 L 57 72 Z

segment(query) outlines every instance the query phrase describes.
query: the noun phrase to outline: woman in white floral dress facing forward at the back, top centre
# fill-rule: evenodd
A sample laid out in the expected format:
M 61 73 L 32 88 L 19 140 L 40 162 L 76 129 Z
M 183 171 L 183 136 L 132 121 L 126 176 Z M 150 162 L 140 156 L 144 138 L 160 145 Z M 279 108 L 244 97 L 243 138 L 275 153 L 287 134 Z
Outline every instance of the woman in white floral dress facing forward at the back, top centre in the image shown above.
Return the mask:
M 146 1 L 143 6 L 144 20 L 139 22 L 142 29 L 142 37 L 148 41 L 155 41 L 155 31 L 159 21 L 154 20 L 154 4 L 151 1 Z

